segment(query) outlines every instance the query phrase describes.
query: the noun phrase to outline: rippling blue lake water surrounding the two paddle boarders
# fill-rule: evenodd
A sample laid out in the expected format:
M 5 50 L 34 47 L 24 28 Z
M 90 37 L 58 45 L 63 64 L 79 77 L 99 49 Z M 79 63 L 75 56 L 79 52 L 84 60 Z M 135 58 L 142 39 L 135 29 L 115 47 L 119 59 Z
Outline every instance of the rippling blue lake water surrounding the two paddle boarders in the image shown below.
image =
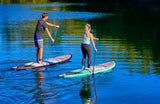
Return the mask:
M 85 3 L 0 4 L 0 104 L 159 104 L 159 7 Z M 101 6 L 102 5 L 102 6 Z M 11 67 L 35 61 L 37 20 L 60 25 L 50 57 L 72 54 L 68 62 L 29 70 Z M 96 64 L 116 67 L 94 77 L 58 78 L 81 68 L 80 44 L 85 24 L 97 44 Z M 55 28 L 49 27 L 54 35 Z M 51 41 L 44 35 L 44 55 Z M 94 49 L 92 49 L 92 65 Z

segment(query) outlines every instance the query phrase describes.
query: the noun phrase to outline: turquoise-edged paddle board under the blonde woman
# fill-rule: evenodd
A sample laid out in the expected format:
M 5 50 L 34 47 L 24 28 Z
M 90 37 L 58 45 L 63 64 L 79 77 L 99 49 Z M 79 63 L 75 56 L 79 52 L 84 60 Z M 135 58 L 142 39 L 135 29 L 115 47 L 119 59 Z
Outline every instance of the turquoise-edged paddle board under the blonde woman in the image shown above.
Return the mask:
M 115 67 L 115 62 L 107 62 L 99 65 L 94 66 L 94 74 L 100 73 L 100 72 L 107 72 L 110 71 L 112 68 Z M 91 66 L 93 69 L 93 66 Z M 87 75 L 92 75 L 93 70 L 82 70 L 82 69 L 76 69 L 71 72 L 67 72 L 64 74 L 59 75 L 59 77 L 64 77 L 64 78 L 72 78 L 72 77 L 84 77 Z

